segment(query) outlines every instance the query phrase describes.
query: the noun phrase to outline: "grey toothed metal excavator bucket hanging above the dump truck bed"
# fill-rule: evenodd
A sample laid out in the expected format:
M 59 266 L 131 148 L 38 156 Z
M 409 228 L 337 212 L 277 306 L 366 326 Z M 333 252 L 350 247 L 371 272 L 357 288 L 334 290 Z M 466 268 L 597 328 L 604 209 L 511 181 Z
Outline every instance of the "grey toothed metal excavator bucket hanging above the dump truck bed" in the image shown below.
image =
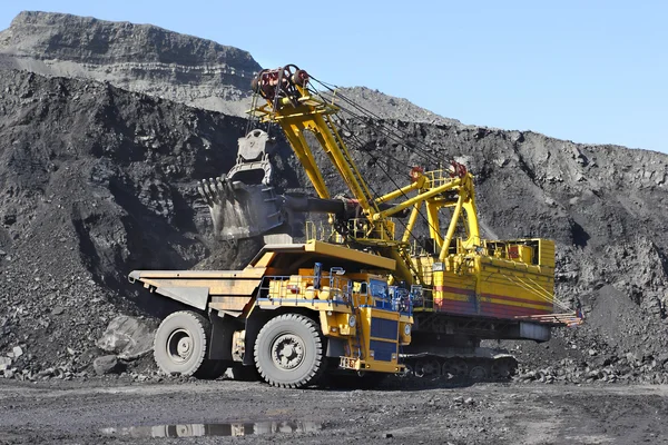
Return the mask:
M 197 190 L 209 206 L 214 234 L 232 240 L 264 235 L 284 222 L 272 182 L 272 144 L 263 130 L 239 138 L 236 165 Z

